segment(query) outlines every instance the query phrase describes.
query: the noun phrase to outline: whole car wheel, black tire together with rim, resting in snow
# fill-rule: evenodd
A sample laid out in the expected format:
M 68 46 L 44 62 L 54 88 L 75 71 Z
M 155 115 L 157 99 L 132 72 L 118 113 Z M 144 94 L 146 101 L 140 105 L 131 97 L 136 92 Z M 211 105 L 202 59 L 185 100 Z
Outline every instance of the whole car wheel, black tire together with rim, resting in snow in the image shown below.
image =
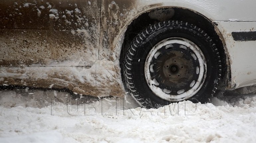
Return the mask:
M 169 20 L 135 37 L 124 58 L 123 76 L 131 96 L 145 108 L 184 100 L 206 103 L 219 88 L 221 63 L 216 45 L 202 29 Z

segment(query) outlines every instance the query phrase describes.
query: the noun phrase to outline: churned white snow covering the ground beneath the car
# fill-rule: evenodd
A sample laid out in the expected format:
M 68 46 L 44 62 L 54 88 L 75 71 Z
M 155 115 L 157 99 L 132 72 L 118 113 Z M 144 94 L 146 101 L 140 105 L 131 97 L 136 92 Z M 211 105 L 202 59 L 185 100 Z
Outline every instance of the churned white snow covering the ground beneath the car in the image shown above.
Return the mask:
M 129 97 L 94 99 L 87 104 L 80 104 L 84 100 L 63 101 L 66 98 L 69 94 L 58 91 L 0 91 L 0 143 L 256 140 L 256 94 L 228 95 L 224 100 L 215 97 L 207 104 L 180 102 L 150 110 L 138 107 Z

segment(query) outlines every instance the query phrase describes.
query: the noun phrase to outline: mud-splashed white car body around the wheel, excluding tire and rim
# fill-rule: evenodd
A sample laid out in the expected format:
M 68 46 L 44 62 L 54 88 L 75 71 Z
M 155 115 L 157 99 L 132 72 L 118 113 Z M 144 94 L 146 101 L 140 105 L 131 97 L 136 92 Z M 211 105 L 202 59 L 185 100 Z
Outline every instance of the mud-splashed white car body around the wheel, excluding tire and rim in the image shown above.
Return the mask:
M 226 55 L 226 89 L 255 85 L 255 2 L 234 0 L 232 6 L 230 3 L 3 0 L 0 84 L 67 88 L 99 97 L 124 96 L 120 65 L 129 41 L 154 21 L 174 16 L 197 22 L 205 29 L 208 25 L 204 21 L 214 27 L 218 46 Z

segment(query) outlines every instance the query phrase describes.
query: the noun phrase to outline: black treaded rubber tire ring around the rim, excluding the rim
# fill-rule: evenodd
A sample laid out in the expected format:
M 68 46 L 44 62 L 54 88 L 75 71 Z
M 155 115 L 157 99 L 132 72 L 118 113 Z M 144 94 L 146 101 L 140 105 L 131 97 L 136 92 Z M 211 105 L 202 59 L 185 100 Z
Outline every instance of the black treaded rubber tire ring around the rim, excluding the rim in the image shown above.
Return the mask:
M 219 88 L 222 61 L 213 40 L 199 27 L 188 22 L 169 20 L 146 28 L 131 42 L 123 64 L 124 82 L 131 96 L 145 108 L 159 108 L 174 101 L 156 96 L 145 78 L 145 61 L 154 45 L 170 37 L 182 37 L 195 43 L 203 53 L 207 73 L 202 86 L 189 99 L 192 102 L 208 102 Z M 222 90 L 222 89 L 218 89 Z

